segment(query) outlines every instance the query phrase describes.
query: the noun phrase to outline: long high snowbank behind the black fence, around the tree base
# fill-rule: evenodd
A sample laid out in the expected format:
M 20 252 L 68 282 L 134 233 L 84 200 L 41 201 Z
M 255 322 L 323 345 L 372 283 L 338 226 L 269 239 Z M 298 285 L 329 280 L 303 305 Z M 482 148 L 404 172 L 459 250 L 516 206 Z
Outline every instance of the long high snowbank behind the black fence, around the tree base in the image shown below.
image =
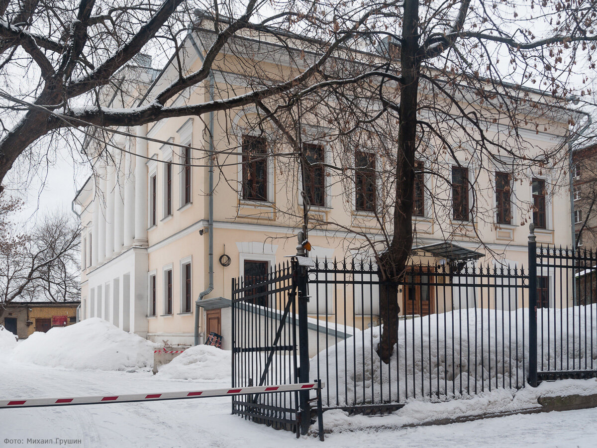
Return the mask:
M 595 304 L 540 309 L 537 328 L 538 370 L 597 366 Z M 469 308 L 401 320 L 389 364 L 376 352 L 380 330 L 367 329 L 313 357 L 310 376 L 326 384 L 324 406 L 466 397 L 521 388 L 528 375 L 527 309 Z

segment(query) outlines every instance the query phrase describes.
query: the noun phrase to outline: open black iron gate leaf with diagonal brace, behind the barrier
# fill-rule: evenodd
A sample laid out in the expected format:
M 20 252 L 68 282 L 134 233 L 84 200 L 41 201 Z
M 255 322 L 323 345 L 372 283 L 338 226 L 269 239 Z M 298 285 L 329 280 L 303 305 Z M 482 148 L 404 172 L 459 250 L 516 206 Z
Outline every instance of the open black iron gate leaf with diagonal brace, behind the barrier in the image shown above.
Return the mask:
M 232 279 L 232 387 L 298 383 L 297 311 L 306 296 L 306 269 L 285 262 L 261 277 Z M 303 285 L 301 287 L 301 285 Z M 304 310 L 306 322 L 306 309 Z M 308 360 L 308 354 L 306 354 Z M 296 432 L 309 425 L 305 393 L 239 395 L 232 413 L 254 422 Z M 301 425 L 303 421 L 303 425 Z

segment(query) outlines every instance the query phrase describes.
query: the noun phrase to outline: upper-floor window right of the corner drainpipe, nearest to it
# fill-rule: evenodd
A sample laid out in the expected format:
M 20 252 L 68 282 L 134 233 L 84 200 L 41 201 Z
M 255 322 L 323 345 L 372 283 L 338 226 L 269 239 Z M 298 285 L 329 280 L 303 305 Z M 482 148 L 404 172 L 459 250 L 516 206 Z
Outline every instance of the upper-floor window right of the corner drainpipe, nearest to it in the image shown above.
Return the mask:
M 261 137 L 242 137 L 242 198 L 267 200 L 267 148 Z

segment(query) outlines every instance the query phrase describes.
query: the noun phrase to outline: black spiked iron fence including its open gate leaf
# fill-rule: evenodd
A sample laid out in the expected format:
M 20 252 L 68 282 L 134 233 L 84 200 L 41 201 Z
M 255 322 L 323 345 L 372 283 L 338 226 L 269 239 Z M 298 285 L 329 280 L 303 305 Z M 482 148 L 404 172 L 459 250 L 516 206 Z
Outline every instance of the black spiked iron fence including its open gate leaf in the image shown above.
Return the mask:
M 390 284 L 373 261 L 315 260 L 307 273 L 294 259 L 233 281 L 233 386 L 321 379 L 324 407 L 383 412 L 410 398 L 597 376 L 597 254 L 533 238 L 528 253 L 528 269 L 411 265 L 391 284 L 400 312 L 386 360 L 379 297 Z M 233 412 L 304 432 L 307 400 L 244 397 Z

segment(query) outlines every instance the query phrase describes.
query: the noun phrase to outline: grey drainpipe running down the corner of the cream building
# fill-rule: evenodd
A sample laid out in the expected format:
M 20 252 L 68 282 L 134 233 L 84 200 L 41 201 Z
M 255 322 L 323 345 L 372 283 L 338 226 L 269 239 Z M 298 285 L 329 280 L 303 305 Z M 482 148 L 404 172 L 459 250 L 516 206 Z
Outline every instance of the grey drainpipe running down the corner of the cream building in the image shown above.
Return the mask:
M 195 52 L 201 62 L 204 61 L 203 54 L 199 50 L 195 39 L 193 39 L 192 30 L 189 31 L 190 42 L 195 48 Z M 210 70 L 210 101 L 214 100 L 214 85 L 216 84 L 214 74 Z M 208 188 L 208 224 L 207 224 L 207 238 L 208 238 L 208 259 L 209 259 L 209 284 L 205 291 L 199 293 L 199 297 L 195 302 L 195 345 L 199 345 L 199 312 L 201 312 L 201 300 L 207 294 L 214 290 L 214 112 L 210 112 L 210 169 L 209 169 L 209 188 Z

